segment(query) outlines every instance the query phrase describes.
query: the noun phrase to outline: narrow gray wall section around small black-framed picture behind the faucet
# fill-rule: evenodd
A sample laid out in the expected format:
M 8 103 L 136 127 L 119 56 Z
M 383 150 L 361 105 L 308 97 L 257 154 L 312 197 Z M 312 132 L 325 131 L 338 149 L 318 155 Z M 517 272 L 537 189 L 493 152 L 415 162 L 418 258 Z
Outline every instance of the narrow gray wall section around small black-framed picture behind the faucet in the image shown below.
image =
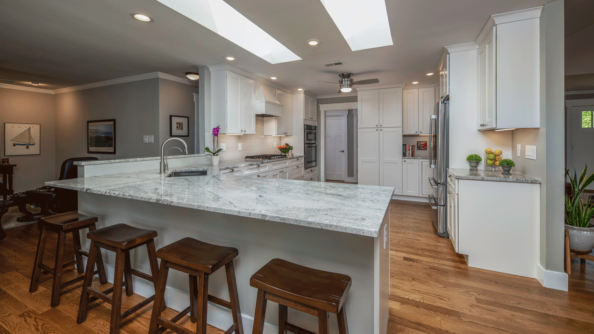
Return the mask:
M 188 152 L 194 154 L 195 147 L 195 115 L 194 115 L 194 93 L 198 93 L 198 87 L 189 84 L 178 83 L 177 81 L 159 78 L 159 143 L 169 139 L 169 116 L 189 116 L 188 127 L 189 137 L 179 137 L 188 144 Z M 177 146 L 181 149 L 184 145 L 179 141 L 171 141 L 165 149 Z M 173 149 L 172 155 L 181 154 L 179 150 Z M 159 152 L 157 152 L 159 155 Z

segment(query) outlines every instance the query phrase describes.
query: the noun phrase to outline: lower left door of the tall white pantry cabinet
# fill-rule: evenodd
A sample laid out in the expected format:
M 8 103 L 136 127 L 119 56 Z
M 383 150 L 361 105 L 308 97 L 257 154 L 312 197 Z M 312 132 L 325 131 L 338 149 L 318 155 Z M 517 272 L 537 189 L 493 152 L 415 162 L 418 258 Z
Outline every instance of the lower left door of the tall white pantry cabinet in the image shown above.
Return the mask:
M 380 185 L 380 129 L 359 128 L 357 142 L 358 183 Z

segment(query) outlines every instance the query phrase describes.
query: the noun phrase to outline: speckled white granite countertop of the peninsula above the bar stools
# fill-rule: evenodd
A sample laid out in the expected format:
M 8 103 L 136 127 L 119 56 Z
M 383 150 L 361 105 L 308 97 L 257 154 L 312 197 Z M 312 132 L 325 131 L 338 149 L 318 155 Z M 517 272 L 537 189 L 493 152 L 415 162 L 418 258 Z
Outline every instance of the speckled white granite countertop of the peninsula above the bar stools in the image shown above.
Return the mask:
M 228 163 L 170 170 L 206 170 L 206 176 L 168 178 L 152 169 L 45 184 L 368 237 L 378 237 L 394 191 L 392 187 L 372 185 L 221 174 L 221 169 L 233 168 Z

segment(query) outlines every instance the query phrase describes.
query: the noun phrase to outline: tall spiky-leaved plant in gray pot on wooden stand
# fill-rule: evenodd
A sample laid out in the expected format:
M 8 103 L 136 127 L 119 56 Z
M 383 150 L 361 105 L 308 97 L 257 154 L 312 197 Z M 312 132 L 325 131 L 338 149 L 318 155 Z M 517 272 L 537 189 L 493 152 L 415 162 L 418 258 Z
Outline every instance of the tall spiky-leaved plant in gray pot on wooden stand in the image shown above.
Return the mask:
M 594 173 L 586 178 L 587 168 L 586 165 L 579 179 L 576 170 L 573 170 L 573 177 L 569 177 L 573 194 L 565 194 L 565 229 L 569 230 L 570 248 L 583 254 L 589 254 L 594 248 L 594 225 L 590 223 L 594 216 L 593 196 L 588 196 L 586 203 L 580 197 L 586 187 L 594 181 Z M 565 177 L 568 175 L 569 170 L 565 169 Z

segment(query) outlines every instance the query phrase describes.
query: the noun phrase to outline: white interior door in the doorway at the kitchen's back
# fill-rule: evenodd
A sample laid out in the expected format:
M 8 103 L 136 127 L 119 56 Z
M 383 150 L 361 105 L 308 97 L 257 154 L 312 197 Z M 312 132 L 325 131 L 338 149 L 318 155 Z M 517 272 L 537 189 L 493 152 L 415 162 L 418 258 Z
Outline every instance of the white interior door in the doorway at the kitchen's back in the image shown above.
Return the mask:
M 347 110 L 326 112 L 326 179 L 345 181 L 348 113 Z

